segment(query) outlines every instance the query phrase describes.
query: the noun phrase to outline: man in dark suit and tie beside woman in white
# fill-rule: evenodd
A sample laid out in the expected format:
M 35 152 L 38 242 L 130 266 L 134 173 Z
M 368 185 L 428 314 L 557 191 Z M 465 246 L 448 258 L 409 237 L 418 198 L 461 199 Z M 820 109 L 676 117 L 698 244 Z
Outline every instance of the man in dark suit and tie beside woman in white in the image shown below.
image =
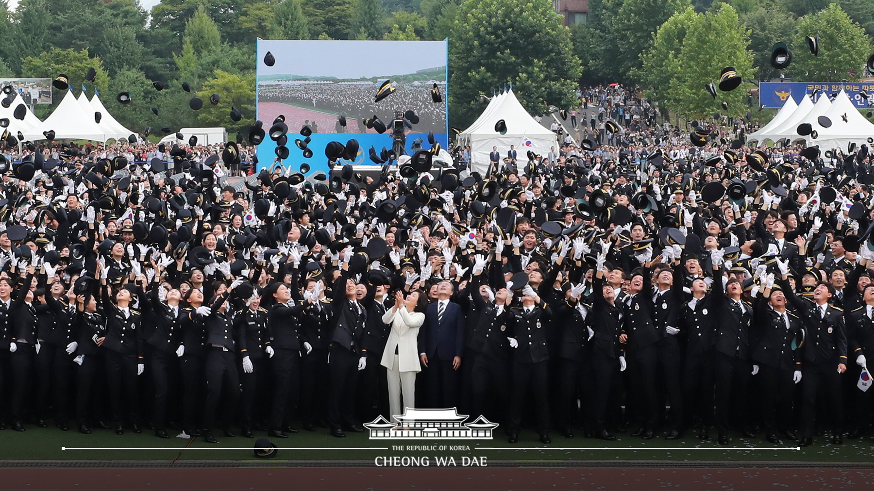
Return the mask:
M 425 367 L 428 407 L 457 405 L 461 352 L 464 349 L 464 313 L 449 301 L 454 287 L 437 284 L 437 301 L 428 306 L 419 331 L 419 357 Z

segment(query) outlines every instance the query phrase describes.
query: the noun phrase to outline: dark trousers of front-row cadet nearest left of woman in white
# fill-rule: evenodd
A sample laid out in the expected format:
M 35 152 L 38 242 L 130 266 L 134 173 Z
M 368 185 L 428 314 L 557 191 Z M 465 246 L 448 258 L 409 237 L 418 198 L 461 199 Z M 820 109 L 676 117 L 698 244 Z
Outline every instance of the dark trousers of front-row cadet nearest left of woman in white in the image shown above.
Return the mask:
M 338 431 L 343 425 L 356 424 L 354 403 L 360 356 L 336 344 L 329 351 L 328 425 L 332 431 Z

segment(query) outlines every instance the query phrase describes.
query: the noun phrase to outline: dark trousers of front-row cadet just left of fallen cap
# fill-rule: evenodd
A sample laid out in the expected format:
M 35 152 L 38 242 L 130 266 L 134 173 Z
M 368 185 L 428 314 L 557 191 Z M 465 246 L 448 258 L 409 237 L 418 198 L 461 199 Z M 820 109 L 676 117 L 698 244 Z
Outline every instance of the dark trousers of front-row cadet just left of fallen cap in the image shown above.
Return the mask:
M 222 396 L 223 427 L 230 426 L 233 413 L 239 403 L 239 376 L 233 351 L 210 347 L 206 353 L 206 402 L 204 404 L 204 429 L 212 431 L 218 415 L 218 403 Z

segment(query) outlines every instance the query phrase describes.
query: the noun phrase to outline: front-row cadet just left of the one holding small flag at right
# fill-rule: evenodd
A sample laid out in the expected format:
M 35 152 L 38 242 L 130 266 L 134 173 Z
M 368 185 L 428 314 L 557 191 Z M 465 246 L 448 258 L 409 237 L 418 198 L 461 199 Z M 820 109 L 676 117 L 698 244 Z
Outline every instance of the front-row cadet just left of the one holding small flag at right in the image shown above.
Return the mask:
M 780 259 L 777 264 L 783 266 Z M 829 396 L 831 442 L 835 445 L 843 443 L 843 394 L 840 376 L 847 371 L 847 331 L 843 323 L 843 309 L 829 304 L 834 292 L 834 287 L 822 281 L 814 289 L 814 301 L 796 296 L 791 288 L 786 291 L 787 299 L 801 317 L 808 335 L 801 349 L 804 361 L 804 379 L 801 383 L 801 446 L 813 443 L 818 391 L 824 391 Z

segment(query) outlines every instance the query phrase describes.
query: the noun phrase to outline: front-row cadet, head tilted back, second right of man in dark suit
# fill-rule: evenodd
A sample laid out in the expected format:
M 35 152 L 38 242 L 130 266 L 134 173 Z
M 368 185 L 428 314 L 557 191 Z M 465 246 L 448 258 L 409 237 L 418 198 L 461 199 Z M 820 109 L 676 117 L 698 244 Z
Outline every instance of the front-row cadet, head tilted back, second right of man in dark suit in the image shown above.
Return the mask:
M 549 438 L 549 351 L 546 347 L 546 322 L 551 322 L 552 309 L 530 285 L 522 289 L 522 308 L 515 308 L 507 326 L 516 342 L 513 354 L 512 391 L 510 394 L 510 443 L 519 440 L 522 411 L 529 394 L 533 396 L 540 441 Z

